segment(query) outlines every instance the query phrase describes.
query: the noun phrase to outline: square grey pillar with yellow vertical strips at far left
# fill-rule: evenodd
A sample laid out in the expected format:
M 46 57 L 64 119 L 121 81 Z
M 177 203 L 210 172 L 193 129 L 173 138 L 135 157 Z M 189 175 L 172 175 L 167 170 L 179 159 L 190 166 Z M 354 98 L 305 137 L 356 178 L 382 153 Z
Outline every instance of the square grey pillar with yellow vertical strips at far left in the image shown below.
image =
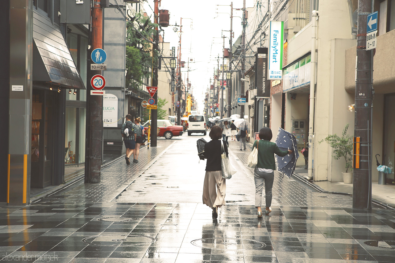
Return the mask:
M 32 1 L 10 0 L 9 4 L 7 204 L 28 205 L 32 146 L 33 10 Z

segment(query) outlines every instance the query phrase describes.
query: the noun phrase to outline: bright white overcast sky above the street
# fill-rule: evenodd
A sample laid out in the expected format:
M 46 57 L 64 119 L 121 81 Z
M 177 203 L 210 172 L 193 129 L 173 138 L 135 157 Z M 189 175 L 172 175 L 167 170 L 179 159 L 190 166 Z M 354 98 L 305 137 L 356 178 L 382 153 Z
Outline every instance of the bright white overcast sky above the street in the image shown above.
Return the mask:
M 170 25 L 180 24 L 182 17 L 181 36 L 181 60 L 188 62 L 188 58 L 193 58 L 189 63 L 189 80 L 192 84 L 192 92 L 196 102 L 199 104 L 200 113 L 203 113 L 203 99 L 210 78 L 213 78 L 213 70 L 217 68 L 218 54 L 222 56 L 222 34 L 221 30 L 230 30 L 230 3 L 233 8 L 243 8 L 243 0 L 162 0 L 159 9 L 167 9 L 170 13 Z M 246 7 L 252 7 L 254 0 L 246 0 Z M 144 3 L 145 11 L 152 14 L 154 1 L 148 0 Z M 225 6 L 217 6 L 225 5 Z M 217 12 L 220 12 L 217 14 Z M 227 14 L 226 14 L 227 13 Z M 233 10 L 233 43 L 241 35 L 242 11 Z M 216 18 L 215 18 L 216 17 Z M 190 18 L 190 19 L 186 19 Z M 192 23 L 192 28 L 191 28 Z M 170 42 L 170 47 L 176 47 L 179 43 L 179 31 L 173 31 L 174 26 L 164 28 L 164 41 Z M 229 32 L 224 31 L 225 48 L 229 47 Z M 222 58 L 220 58 L 220 65 Z M 183 79 L 186 82 L 187 63 L 182 71 Z

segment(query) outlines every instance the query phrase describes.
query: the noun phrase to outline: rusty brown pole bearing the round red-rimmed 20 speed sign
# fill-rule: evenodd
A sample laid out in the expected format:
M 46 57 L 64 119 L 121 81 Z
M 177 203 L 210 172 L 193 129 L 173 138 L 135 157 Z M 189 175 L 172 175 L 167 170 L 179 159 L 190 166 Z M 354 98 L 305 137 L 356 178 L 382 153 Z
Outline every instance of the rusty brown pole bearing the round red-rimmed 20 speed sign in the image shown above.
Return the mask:
M 103 9 L 101 0 L 94 1 L 92 7 L 91 48 L 103 48 Z M 89 56 L 90 57 L 90 56 Z M 91 70 L 90 76 L 102 75 L 102 71 Z M 85 146 L 85 183 L 100 183 L 103 148 L 103 96 L 91 96 L 90 83 L 87 85 L 87 127 Z

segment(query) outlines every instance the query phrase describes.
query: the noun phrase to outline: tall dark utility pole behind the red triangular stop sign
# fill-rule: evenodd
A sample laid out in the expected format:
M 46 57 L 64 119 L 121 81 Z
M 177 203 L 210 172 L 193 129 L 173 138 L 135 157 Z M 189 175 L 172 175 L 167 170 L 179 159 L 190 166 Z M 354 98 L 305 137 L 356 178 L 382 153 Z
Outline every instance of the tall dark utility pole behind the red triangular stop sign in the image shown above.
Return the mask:
M 154 0 L 154 23 L 159 24 L 159 0 Z M 158 26 L 155 26 L 155 32 L 154 32 L 154 44 L 152 45 L 152 56 L 156 54 L 159 54 L 158 50 L 158 42 L 159 42 L 159 32 L 158 32 Z M 157 58 L 159 56 L 156 56 Z M 158 86 L 158 63 L 155 62 L 152 65 L 152 70 L 154 71 L 154 77 L 152 79 L 152 86 L 157 87 Z M 154 96 L 152 97 L 156 104 L 158 104 L 158 91 L 155 92 Z M 151 147 L 156 147 L 157 145 L 157 127 L 158 127 L 158 110 L 154 109 L 151 110 Z

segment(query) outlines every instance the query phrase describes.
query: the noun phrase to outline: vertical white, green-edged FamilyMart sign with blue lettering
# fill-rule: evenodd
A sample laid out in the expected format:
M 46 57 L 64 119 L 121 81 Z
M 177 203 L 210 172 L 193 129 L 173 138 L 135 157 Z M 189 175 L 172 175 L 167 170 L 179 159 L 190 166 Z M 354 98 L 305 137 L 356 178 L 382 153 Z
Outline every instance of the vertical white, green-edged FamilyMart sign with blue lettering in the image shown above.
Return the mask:
M 269 75 L 267 79 L 282 79 L 282 39 L 284 22 L 270 21 Z

